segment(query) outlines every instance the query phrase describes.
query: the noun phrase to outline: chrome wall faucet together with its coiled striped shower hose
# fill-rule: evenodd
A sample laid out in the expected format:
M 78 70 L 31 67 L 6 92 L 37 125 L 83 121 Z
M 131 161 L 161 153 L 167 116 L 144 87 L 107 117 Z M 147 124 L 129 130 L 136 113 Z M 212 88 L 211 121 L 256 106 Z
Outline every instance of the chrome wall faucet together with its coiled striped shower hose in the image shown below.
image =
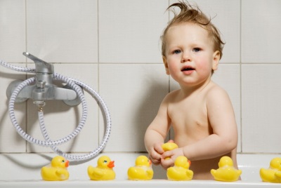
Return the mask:
M 98 95 L 98 93 L 96 93 L 95 90 L 93 90 L 93 88 L 87 86 L 85 83 L 82 83 L 77 79 L 70 79 L 67 76 L 55 73 L 54 67 L 51 63 L 44 62 L 44 60 L 40 60 L 30 53 L 24 52 L 23 55 L 34 61 L 35 69 L 17 67 L 0 60 L 0 65 L 8 69 L 13 69 L 19 72 L 35 73 L 35 77 L 32 77 L 25 81 L 15 80 L 11 82 L 6 90 L 6 95 L 9 98 L 8 112 L 15 130 L 17 130 L 17 132 L 28 142 L 45 147 L 51 147 L 51 149 L 53 149 L 53 152 L 64 156 L 70 161 L 84 161 L 86 159 L 91 159 L 97 156 L 105 147 L 110 137 L 111 130 L 110 113 L 103 99 L 100 97 L 100 95 Z M 53 80 L 63 81 L 64 83 L 66 83 L 66 85 L 63 86 L 63 88 L 60 88 L 53 84 Z M 95 100 L 98 102 L 98 105 L 100 106 L 100 109 L 102 109 L 103 116 L 105 117 L 106 121 L 105 135 L 103 137 L 103 140 L 100 142 L 100 145 L 96 149 L 94 149 L 93 152 L 81 155 L 67 154 L 58 149 L 57 146 L 69 140 L 72 140 L 72 138 L 76 137 L 84 127 L 84 123 L 86 122 L 86 117 L 88 115 L 88 110 L 86 100 L 84 98 L 83 89 L 90 93 L 93 98 L 95 98 Z M 28 99 L 32 99 L 33 103 L 38 107 L 39 126 L 45 140 L 37 140 L 31 135 L 25 133 L 25 130 L 22 130 L 22 128 L 18 124 L 18 121 L 15 119 L 15 103 L 25 102 Z M 72 133 L 70 133 L 70 135 L 63 137 L 60 140 L 50 139 L 44 123 L 43 108 L 46 104 L 46 100 L 63 100 L 63 102 L 65 102 L 65 104 L 69 105 L 70 107 L 74 107 L 79 104 L 82 105 L 82 114 L 79 125 Z

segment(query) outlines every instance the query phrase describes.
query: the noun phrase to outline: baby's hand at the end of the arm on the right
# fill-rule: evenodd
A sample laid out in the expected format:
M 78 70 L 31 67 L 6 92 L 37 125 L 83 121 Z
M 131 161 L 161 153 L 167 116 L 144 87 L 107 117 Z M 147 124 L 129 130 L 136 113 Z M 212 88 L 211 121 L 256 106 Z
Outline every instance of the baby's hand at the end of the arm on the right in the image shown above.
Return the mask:
M 167 169 L 171 166 L 174 166 L 174 161 L 176 160 L 176 158 L 178 156 L 184 156 L 182 147 L 164 152 L 162 154 L 161 166 L 164 169 Z M 167 157 L 170 158 L 170 159 L 166 159 Z

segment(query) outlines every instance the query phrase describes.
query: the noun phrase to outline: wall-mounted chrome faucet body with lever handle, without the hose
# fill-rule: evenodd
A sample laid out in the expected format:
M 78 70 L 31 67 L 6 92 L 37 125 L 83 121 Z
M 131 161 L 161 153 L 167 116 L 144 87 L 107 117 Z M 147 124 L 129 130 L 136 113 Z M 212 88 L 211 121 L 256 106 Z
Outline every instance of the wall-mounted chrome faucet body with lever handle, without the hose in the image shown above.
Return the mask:
M 80 100 L 77 97 L 77 93 L 65 85 L 63 88 L 59 88 L 53 85 L 53 73 L 54 68 L 51 63 L 40 60 L 30 53 L 22 53 L 35 63 L 35 81 L 32 86 L 25 86 L 20 90 L 15 102 L 25 102 L 25 100 L 32 99 L 34 104 L 38 107 L 44 107 L 46 100 L 63 100 L 65 104 L 70 106 L 76 106 L 80 104 Z M 15 80 L 10 83 L 6 90 L 6 95 L 11 98 L 13 90 L 20 85 L 22 81 Z

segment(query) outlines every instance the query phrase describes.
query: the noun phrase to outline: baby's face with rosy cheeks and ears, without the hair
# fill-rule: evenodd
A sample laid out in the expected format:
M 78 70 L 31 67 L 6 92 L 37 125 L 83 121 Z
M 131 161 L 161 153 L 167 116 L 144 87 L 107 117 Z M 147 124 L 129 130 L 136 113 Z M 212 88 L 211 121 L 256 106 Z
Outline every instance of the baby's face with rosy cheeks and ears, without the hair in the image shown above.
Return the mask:
M 216 69 L 218 51 L 214 52 L 206 29 L 193 23 L 174 25 L 166 32 L 166 73 L 181 85 L 197 86 L 211 78 Z

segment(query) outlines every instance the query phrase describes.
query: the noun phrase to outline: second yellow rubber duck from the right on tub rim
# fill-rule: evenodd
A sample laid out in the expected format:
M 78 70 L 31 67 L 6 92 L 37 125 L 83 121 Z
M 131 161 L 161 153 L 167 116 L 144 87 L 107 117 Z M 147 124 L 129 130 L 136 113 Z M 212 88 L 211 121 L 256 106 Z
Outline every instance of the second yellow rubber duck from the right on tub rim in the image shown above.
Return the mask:
M 239 179 L 242 170 L 237 170 L 233 167 L 233 159 L 229 156 L 221 157 L 218 162 L 218 169 L 211 169 L 211 175 L 214 176 L 214 180 L 222 182 L 235 182 Z

